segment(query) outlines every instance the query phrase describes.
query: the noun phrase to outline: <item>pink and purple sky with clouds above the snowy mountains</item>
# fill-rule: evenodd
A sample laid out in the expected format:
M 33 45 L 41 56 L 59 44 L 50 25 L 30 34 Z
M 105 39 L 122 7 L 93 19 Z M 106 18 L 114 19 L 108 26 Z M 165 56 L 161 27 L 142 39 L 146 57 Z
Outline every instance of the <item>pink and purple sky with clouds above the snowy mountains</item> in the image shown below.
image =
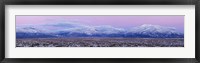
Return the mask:
M 184 30 L 184 16 L 16 16 L 16 24 L 45 24 L 59 21 L 75 21 L 87 25 L 111 25 L 134 27 L 152 24 Z

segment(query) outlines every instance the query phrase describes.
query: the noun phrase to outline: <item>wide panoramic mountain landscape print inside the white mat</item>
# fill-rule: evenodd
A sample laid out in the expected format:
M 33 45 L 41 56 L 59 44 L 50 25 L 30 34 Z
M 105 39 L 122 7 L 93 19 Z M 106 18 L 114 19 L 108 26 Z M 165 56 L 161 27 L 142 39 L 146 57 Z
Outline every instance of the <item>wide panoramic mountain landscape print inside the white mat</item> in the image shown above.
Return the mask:
M 16 16 L 16 47 L 184 47 L 184 16 Z

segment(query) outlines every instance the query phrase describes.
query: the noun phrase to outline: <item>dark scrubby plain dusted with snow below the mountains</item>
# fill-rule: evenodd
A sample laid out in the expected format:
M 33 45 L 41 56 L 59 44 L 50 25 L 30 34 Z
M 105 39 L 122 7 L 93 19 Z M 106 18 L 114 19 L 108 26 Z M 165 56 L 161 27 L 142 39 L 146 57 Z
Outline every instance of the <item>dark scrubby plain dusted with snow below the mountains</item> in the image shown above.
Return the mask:
M 184 47 L 183 38 L 27 38 L 16 47 Z

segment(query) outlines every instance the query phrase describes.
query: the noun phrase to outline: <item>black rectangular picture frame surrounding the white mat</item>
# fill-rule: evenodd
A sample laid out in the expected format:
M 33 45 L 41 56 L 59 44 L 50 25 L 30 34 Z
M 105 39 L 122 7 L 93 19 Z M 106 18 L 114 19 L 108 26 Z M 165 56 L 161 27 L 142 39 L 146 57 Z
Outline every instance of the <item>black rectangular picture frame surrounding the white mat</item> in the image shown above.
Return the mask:
M 5 5 L 195 5 L 195 58 L 5 58 Z M 198 63 L 200 61 L 199 0 L 0 0 L 2 63 Z

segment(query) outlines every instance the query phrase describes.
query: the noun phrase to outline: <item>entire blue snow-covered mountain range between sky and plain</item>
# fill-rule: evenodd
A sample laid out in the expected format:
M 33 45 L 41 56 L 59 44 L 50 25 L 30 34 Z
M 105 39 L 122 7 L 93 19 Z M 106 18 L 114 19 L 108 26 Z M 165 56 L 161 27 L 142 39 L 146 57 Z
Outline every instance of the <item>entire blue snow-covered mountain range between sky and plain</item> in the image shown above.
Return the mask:
M 131 38 L 183 38 L 173 27 L 144 24 L 129 29 L 109 25 L 89 26 L 73 22 L 16 26 L 17 38 L 50 37 L 131 37 Z

